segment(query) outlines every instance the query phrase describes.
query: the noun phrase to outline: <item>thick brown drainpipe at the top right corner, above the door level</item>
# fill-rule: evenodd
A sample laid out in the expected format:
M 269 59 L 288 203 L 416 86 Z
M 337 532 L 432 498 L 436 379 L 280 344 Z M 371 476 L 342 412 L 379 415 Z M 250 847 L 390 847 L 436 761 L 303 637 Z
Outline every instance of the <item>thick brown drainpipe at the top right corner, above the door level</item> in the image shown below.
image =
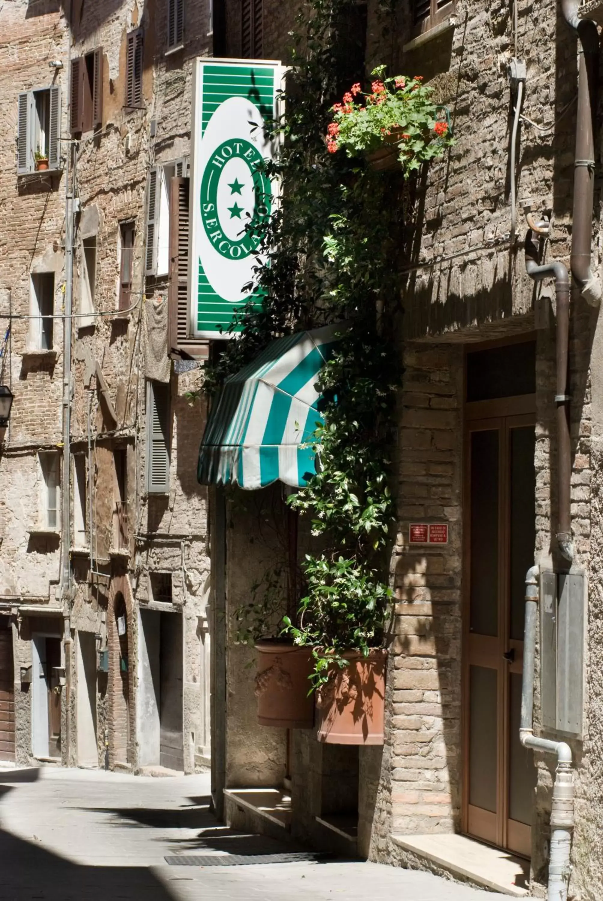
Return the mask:
M 581 295 L 590 305 L 597 306 L 601 300 L 601 280 L 591 268 L 590 243 L 595 183 L 598 31 L 596 23 L 578 17 L 579 5 L 579 0 L 562 0 L 563 16 L 580 39 L 570 268 Z

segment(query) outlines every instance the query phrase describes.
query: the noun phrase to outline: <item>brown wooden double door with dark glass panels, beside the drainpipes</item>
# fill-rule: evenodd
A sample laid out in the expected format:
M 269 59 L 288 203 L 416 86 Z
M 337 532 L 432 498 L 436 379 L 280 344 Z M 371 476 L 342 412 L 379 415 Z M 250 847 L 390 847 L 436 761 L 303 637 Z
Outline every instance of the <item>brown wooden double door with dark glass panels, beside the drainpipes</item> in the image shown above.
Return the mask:
M 524 411 L 533 400 L 467 405 L 465 445 L 465 831 L 528 857 L 535 769 L 519 714 L 535 537 L 534 413 Z

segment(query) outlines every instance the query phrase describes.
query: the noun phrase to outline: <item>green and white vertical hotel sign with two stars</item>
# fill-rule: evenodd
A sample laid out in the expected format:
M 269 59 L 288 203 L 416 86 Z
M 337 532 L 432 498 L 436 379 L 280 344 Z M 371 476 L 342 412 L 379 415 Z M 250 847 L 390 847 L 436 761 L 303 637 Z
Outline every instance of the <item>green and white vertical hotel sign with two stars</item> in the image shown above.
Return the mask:
M 228 338 L 233 311 L 252 296 L 260 235 L 274 196 L 262 171 L 276 147 L 264 123 L 273 118 L 280 63 L 197 59 L 191 168 L 192 333 Z

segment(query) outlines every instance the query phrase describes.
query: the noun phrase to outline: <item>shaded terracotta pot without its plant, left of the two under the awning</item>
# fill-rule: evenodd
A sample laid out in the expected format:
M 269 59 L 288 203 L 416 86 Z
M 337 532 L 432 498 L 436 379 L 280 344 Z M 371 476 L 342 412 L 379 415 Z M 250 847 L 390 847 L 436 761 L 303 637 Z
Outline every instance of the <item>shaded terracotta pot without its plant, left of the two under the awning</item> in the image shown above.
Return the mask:
M 308 697 L 308 676 L 313 669 L 311 651 L 285 642 L 258 642 L 255 696 L 258 723 L 280 729 L 311 729 L 314 695 Z

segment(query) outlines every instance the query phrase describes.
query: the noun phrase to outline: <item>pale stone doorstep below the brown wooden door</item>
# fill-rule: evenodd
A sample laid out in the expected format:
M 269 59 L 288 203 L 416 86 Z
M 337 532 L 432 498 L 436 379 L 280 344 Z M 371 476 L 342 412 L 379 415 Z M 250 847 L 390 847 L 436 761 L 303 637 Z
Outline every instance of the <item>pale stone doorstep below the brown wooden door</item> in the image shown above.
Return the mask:
M 391 841 L 452 878 L 502 895 L 526 897 L 530 864 L 510 851 L 492 848 L 467 835 L 392 835 Z

